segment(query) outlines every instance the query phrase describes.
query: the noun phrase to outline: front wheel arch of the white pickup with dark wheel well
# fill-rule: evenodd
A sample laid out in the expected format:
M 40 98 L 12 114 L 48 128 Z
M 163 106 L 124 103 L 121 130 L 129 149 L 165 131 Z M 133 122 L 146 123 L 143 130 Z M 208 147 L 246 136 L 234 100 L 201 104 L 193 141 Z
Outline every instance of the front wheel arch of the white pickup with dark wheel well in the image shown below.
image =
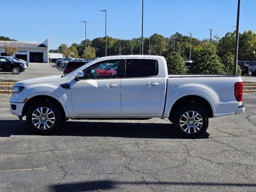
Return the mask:
M 43 101 L 45 101 L 45 100 L 47 101 L 48 100 L 48 101 L 53 102 L 54 104 L 56 104 L 60 108 L 62 114 L 65 117 L 68 117 L 68 111 L 66 109 L 65 104 L 62 101 L 58 100 L 57 98 L 54 98 L 54 96 L 52 96 L 52 95 L 49 96 L 47 94 L 40 94 L 40 95 L 31 96 L 25 102 L 25 105 L 24 105 L 24 107 L 22 109 L 22 116 L 26 115 L 26 112 L 28 111 L 28 108 L 31 106 L 31 104 L 33 104 L 34 102 L 38 102 L 40 100 L 43 100 Z

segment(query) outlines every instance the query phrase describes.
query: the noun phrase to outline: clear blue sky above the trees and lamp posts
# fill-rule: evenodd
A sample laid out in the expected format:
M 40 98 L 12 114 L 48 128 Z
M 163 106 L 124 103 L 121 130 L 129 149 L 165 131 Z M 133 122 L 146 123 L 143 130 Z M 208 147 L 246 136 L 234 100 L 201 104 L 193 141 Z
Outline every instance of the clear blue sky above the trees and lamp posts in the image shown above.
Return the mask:
M 142 0 L 3 0 L 0 11 L 0 36 L 19 41 L 43 42 L 50 37 L 50 48 L 59 42 L 80 43 L 87 38 L 107 35 L 131 39 L 141 36 Z M 224 36 L 236 25 L 237 0 L 144 0 L 144 36 L 165 37 L 192 32 L 195 38 Z M 240 32 L 256 32 L 256 0 L 241 0 Z

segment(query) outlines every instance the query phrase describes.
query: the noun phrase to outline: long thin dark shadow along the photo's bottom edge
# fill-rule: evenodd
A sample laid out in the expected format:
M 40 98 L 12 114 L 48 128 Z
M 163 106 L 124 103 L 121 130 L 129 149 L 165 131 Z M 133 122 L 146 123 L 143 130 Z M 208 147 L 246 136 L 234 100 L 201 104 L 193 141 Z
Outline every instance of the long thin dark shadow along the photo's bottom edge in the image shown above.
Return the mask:
M 91 182 L 74 182 L 69 184 L 60 184 L 60 185 L 53 185 L 49 186 L 49 190 L 51 191 L 69 191 L 69 192 L 75 192 L 75 191 L 101 191 L 101 190 L 118 190 L 120 186 L 143 186 L 145 185 L 145 182 L 115 182 L 113 180 L 97 180 L 97 181 L 91 181 Z M 146 182 L 146 185 L 151 186 L 151 188 L 158 187 L 159 186 L 179 186 L 179 187 L 192 187 L 192 186 L 202 186 L 202 187 L 250 187 L 254 188 L 256 187 L 256 184 L 246 184 L 246 183 L 224 183 L 224 182 Z M 248 188 L 247 188 L 248 189 Z M 215 188 L 216 190 L 216 188 Z M 122 190 L 121 190 L 122 191 Z M 162 190 L 161 190 L 162 191 Z M 228 191 L 228 190 L 227 190 Z

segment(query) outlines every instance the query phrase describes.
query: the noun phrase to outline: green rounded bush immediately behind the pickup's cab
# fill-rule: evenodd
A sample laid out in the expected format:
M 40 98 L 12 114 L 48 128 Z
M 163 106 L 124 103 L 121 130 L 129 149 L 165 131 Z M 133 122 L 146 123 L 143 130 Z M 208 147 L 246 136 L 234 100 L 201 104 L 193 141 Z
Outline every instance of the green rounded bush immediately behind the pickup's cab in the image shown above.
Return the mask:
M 184 58 L 177 52 L 170 52 L 166 57 L 168 74 L 185 74 L 186 65 Z

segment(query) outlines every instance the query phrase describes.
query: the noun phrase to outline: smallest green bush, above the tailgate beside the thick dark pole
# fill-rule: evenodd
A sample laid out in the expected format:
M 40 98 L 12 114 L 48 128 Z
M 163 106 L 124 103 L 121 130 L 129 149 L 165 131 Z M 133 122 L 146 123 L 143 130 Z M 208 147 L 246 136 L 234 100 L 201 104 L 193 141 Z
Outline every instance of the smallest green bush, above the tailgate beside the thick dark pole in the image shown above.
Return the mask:
M 223 57 L 220 58 L 220 61 L 224 65 L 224 73 L 225 74 L 233 74 L 234 71 L 234 54 L 228 52 Z M 240 66 L 237 66 L 237 75 L 241 76 L 242 70 Z

